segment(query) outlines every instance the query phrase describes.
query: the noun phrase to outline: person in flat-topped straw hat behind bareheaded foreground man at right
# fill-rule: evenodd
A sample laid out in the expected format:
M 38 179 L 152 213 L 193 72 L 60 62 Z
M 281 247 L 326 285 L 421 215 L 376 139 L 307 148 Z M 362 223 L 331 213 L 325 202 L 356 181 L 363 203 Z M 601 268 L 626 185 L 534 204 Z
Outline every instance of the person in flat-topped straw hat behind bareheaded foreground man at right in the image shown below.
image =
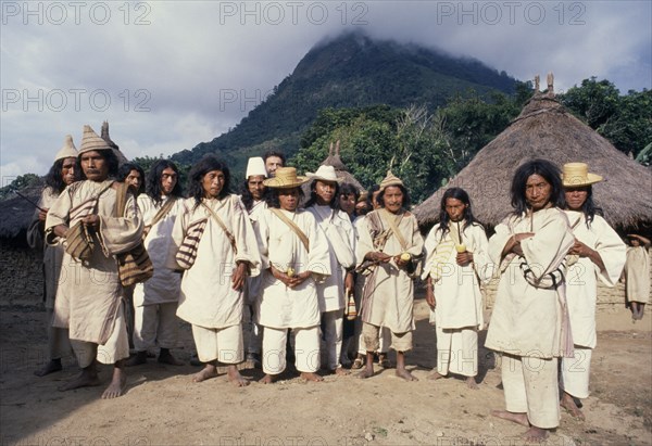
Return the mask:
M 574 357 L 562 358 L 563 390 L 561 405 L 573 417 L 584 420 L 574 398 L 589 396 L 591 353 L 595 348 L 595 304 L 598 277 L 614 286 L 625 265 L 625 243 L 598 213 L 591 184 L 602 177 L 589 173 L 585 163 L 563 167 L 566 215 L 573 228 L 575 244 L 568 252 L 566 300 L 573 332 Z

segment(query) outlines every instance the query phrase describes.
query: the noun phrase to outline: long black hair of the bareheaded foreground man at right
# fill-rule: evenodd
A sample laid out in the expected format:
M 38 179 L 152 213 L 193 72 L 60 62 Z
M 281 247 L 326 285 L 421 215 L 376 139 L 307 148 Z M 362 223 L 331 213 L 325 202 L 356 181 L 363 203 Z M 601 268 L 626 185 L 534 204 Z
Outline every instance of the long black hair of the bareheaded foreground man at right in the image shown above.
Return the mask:
M 564 186 L 562 183 L 562 171 L 548 160 L 531 160 L 521 165 L 512 179 L 512 207 L 514 215 L 521 216 L 529 208 L 525 199 L 525 184 L 532 175 L 543 177 L 550 183 L 550 202 L 560 208 L 564 207 Z

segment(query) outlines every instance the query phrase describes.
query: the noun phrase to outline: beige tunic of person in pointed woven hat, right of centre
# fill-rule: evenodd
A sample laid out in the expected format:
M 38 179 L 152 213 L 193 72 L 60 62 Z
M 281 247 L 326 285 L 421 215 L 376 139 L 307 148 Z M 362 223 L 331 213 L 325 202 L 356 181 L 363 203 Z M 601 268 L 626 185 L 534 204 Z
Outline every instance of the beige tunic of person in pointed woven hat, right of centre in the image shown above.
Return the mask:
M 358 266 L 364 263 L 367 253 L 376 252 L 374 247 L 372 229 L 369 227 L 371 214 L 383 209 L 372 211 L 360 225 L 360 239 L 358 241 L 355 258 Z M 384 230 L 389 227 L 383 228 Z M 413 257 L 421 256 L 424 249 L 424 239 L 418 231 L 416 217 L 410 212 L 404 212 L 403 218 L 398 224 L 408 246 L 401 246 L 392 233 L 385 243 L 384 253 L 396 256 L 403 252 Z M 362 303 L 362 320 L 376 327 L 387 327 L 393 333 L 406 333 L 414 330 L 414 284 L 404 269 L 399 268 L 393 259 L 374 267 L 374 272 L 367 276 L 364 284 Z

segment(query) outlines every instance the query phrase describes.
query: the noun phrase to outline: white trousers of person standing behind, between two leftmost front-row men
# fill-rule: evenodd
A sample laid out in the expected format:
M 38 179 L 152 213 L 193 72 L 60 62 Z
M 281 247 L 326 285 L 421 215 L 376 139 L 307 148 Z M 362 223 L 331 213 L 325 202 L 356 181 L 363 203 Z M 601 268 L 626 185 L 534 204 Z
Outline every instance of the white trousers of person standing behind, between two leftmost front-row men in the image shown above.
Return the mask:
M 177 306 L 178 303 L 168 302 L 134 308 L 134 347 L 137 352 L 153 348 L 156 344 L 161 348 L 177 346 Z

